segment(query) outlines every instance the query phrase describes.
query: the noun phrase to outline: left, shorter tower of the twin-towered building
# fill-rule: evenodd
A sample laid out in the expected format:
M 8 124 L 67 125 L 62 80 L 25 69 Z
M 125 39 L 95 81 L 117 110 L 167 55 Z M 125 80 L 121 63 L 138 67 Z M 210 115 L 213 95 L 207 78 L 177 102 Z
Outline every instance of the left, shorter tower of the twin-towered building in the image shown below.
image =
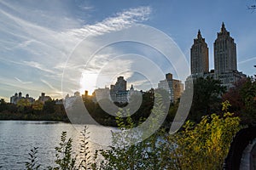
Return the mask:
M 203 75 L 209 71 L 208 47 L 205 38 L 201 37 L 201 31 L 198 31 L 197 38 L 190 48 L 191 74 Z

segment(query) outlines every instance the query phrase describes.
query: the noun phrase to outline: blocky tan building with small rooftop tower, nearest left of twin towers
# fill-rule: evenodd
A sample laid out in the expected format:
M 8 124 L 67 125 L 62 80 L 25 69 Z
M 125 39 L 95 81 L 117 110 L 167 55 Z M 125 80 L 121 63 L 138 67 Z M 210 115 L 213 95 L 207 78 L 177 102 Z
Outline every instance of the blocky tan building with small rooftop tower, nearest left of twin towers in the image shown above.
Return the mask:
M 183 93 L 183 83 L 173 79 L 171 73 L 166 74 L 166 80 L 161 80 L 158 83 L 158 88 L 165 89 L 170 94 L 171 102 L 177 102 Z

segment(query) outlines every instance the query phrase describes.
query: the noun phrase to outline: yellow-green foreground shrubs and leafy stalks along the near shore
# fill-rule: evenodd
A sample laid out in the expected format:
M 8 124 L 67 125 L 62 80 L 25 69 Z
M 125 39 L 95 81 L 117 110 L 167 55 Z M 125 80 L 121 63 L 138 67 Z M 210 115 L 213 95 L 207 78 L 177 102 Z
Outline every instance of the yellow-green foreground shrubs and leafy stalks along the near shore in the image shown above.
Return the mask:
M 80 143 L 80 159 L 72 151 L 72 139 L 67 133 L 61 134 L 61 143 L 56 150 L 56 167 L 49 169 L 221 169 L 227 156 L 231 139 L 240 129 L 240 118 L 228 111 L 230 103 L 222 103 L 223 114 L 203 116 L 201 122 L 185 122 L 183 128 L 168 134 L 159 128 L 159 120 L 164 116 L 166 104 L 161 94 L 155 94 L 156 101 L 151 111 L 148 131 L 132 132 L 137 127 L 129 110 L 116 113 L 116 123 L 122 133 L 113 133 L 113 146 L 106 150 L 96 150 L 93 158 L 89 151 L 89 132 L 84 127 Z M 139 124 L 145 121 L 139 120 Z M 155 131 L 155 129 L 158 129 Z M 155 131 L 148 139 L 137 142 Z M 100 162 L 96 161 L 101 159 Z M 34 161 L 32 161 L 34 162 Z M 29 165 L 29 164 L 28 164 Z M 78 167 L 76 167 L 78 165 Z

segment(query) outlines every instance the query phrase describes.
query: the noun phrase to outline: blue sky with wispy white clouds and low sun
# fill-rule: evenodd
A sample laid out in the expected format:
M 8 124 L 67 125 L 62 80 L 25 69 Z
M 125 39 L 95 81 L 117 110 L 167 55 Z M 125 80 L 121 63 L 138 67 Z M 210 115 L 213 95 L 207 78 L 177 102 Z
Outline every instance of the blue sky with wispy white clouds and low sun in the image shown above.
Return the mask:
M 214 69 L 213 42 L 222 22 L 236 42 L 238 71 L 253 76 L 256 10 L 247 6 L 255 3 L 0 0 L 0 98 L 91 94 L 119 76 L 139 90 L 155 88 L 168 72 L 184 81 L 199 29 Z

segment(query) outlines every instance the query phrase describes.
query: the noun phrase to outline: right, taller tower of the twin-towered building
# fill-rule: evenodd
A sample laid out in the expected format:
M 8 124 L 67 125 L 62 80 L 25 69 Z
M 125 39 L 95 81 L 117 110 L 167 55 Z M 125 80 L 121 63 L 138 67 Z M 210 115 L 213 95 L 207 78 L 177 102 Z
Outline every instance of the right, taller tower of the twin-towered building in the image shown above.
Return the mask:
M 222 23 L 214 42 L 214 69 L 216 74 L 237 71 L 236 43 Z

